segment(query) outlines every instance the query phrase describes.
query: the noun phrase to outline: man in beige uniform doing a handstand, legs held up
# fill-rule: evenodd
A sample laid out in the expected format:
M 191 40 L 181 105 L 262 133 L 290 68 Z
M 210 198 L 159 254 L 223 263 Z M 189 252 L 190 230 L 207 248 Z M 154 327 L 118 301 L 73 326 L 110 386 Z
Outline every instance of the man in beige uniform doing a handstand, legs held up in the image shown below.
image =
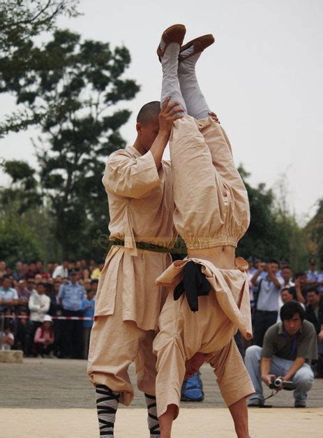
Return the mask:
M 254 388 L 234 334 L 239 328 L 247 339 L 252 337 L 248 263 L 235 258 L 234 251 L 248 228 L 248 195 L 229 140 L 209 117 L 195 76 L 197 59 L 214 38 L 202 36 L 181 47 L 185 31 L 181 24 L 170 27 L 158 48 L 162 96 L 171 95 L 184 108 L 184 116 L 174 122 L 170 156 L 174 225 L 188 249 L 186 260 L 174 262 L 158 278 L 159 284 L 175 288 L 167 296 L 153 342 L 160 437 L 171 436 L 185 374 L 206 360 L 214 368 L 236 435 L 247 438 L 246 397 Z

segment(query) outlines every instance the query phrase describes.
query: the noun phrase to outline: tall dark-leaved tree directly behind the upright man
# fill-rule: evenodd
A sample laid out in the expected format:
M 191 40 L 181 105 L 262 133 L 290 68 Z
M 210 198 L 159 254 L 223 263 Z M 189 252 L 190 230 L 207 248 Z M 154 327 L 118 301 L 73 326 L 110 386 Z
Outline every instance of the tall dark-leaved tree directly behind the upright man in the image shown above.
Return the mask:
M 33 60 L 29 68 L 14 69 L 20 52 L 0 64 L 0 75 L 17 103 L 35 117 L 43 113 L 43 135 L 35 142 L 38 179 L 62 255 L 75 256 L 82 242 L 93 240 L 93 227 L 107 227 L 101 178 L 106 157 L 125 145 L 119 128 L 130 116 L 111 107 L 132 99 L 139 87 L 121 78 L 130 64 L 125 47 L 111 50 L 109 43 L 82 42 L 78 34 L 56 30 L 42 47 L 29 40 L 24 50 Z

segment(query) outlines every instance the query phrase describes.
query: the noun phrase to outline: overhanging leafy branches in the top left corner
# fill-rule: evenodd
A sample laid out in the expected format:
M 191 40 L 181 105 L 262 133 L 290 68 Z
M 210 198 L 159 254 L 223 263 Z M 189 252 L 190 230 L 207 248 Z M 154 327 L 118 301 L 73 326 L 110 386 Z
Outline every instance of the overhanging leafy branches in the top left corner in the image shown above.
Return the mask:
M 9 91 L 6 83 L 11 73 L 28 71 L 35 61 L 28 50 L 32 38 L 52 30 L 59 15 L 77 16 L 78 3 L 79 0 L 0 0 L 0 93 Z M 0 137 L 37 124 L 43 115 L 26 108 L 7 115 L 0 124 Z

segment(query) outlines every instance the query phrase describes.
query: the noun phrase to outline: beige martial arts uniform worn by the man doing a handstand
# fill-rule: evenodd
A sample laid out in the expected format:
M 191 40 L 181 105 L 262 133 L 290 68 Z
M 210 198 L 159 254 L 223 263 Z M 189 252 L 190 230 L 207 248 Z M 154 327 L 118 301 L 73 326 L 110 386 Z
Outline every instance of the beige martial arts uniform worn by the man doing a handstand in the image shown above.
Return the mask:
M 174 122 L 170 141 L 176 211 L 174 225 L 188 249 L 232 245 L 248 228 L 248 195 L 234 166 L 229 140 L 211 118 L 185 116 Z M 183 278 L 187 260 L 202 265 L 211 284 L 192 312 L 184 295 L 174 301 L 171 290 L 160 314 L 160 333 L 153 342 L 158 356 L 156 398 L 158 417 L 169 404 L 179 406 L 185 362 L 197 351 L 214 367 L 227 406 L 254 392 L 234 342 L 239 328 L 252 337 L 248 263 L 236 258 L 236 267 L 218 269 L 200 258 L 176 261 L 158 277 L 158 284 L 174 286 Z

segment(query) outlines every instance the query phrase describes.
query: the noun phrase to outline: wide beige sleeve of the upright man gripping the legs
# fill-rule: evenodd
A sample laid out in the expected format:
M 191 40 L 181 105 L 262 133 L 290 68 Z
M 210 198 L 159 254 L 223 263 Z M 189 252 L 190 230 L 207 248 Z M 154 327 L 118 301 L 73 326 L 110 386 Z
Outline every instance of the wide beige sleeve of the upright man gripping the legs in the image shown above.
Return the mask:
M 103 185 L 106 191 L 117 196 L 140 198 L 154 187 L 160 180 L 155 160 L 151 152 L 137 158 L 123 154 L 112 154 L 107 160 Z

